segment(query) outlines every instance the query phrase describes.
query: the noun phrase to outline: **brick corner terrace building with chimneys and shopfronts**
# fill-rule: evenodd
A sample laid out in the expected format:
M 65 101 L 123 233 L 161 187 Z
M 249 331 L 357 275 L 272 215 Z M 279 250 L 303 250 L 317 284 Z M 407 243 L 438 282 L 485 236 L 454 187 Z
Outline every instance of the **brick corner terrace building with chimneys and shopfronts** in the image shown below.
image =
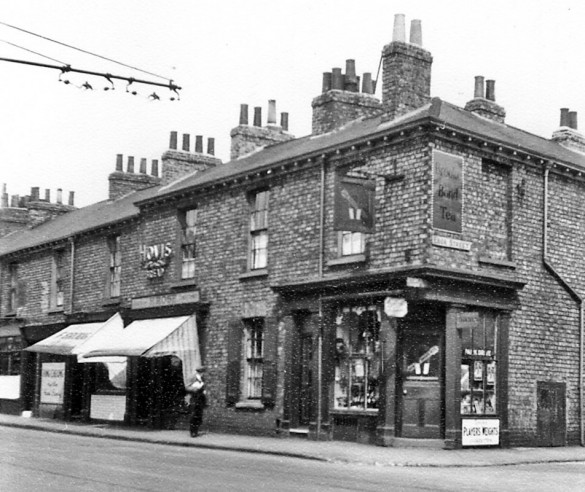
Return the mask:
M 410 42 L 403 23 L 381 100 L 348 60 L 311 135 L 272 101 L 249 126 L 242 105 L 230 162 L 172 133 L 162 177 L 119 156 L 109 200 L 0 240 L 1 315 L 36 344 L 21 410 L 181 425 L 190 361 L 215 430 L 583 441 L 576 113 L 545 139 L 508 126 L 483 77 L 465 108 L 431 98 L 420 23 Z M 189 336 L 197 354 L 179 353 Z

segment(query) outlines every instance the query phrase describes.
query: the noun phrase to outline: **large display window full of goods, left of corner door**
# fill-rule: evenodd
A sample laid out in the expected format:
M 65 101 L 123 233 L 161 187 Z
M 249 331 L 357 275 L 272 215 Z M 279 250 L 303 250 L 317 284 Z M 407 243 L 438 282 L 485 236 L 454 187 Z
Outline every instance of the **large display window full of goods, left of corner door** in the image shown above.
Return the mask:
M 345 307 L 337 313 L 335 409 L 378 409 L 381 316 L 379 306 Z

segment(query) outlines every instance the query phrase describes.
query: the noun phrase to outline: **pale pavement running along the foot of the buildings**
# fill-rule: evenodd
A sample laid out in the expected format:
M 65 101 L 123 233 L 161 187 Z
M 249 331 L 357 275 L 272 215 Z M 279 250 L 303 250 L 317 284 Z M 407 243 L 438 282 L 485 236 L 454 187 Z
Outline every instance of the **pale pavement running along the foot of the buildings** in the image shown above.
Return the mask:
M 585 462 L 585 448 L 580 446 L 446 450 L 422 447 L 380 447 L 342 441 L 313 441 L 297 437 L 263 437 L 211 432 L 203 432 L 199 437 L 192 438 L 186 430 L 152 430 L 0 414 L 1 426 L 359 465 L 457 468 Z

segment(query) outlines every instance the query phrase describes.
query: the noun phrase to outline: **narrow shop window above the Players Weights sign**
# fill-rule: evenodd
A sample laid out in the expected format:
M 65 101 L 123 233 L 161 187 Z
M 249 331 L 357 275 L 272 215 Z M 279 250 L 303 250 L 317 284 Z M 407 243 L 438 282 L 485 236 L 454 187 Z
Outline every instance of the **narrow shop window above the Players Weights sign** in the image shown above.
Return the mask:
M 461 329 L 461 413 L 490 415 L 497 412 L 498 318 L 479 313 L 477 320 Z

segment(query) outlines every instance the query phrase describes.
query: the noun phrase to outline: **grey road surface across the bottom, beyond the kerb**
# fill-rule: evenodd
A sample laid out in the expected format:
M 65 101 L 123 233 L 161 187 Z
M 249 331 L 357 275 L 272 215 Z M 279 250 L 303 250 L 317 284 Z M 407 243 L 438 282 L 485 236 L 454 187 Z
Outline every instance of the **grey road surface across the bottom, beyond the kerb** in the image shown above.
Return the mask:
M 584 490 L 585 463 L 383 467 L 0 428 L 0 490 Z

